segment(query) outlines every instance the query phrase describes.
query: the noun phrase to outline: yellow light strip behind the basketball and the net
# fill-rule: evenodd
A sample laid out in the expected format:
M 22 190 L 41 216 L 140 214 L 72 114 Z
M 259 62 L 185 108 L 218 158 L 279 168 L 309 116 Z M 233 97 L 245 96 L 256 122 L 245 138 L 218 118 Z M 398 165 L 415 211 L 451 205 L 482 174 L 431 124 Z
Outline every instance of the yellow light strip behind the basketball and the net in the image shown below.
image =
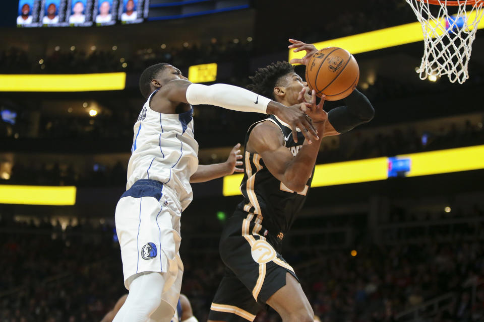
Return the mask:
M 479 14 L 480 12 L 477 13 L 477 15 Z M 476 13 L 473 13 L 472 17 L 469 15 L 468 19 L 472 20 L 475 15 Z M 443 25 L 445 26 L 445 22 Z M 477 25 L 477 29 L 482 28 L 484 28 L 484 19 L 482 19 L 479 25 Z M 330 46 L 341 47 L 352 54 L 358 54 L 372 50 L 410 44 L 417 41 L 423 41 L 422 25 L 420 22 L 321 41 L 314 43 L 313 45 L 315 45 L 318 49 Z M 305 51 L 293 52 L 293 50 L 294 49 L 289 50 L 289 60 L 292 58 L 302 58 L 306 53 Z

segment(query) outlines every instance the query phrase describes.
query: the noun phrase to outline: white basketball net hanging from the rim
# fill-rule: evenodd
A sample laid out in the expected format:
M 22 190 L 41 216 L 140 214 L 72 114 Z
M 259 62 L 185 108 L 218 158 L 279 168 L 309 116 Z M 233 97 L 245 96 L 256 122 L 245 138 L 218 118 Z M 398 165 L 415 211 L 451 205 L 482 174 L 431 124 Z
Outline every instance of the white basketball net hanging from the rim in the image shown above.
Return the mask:
M 456 81 L 459 84 L 464 83 L 469 78 L 467 65 L 477 25 L 484 13 L 482 10 L 484 1 L 406 0 L 406 2 L 410 4 L 422 25 L 425 51 L 420 67 L 416 70 L 420 79 L 426 79 L 429 75 L 447 75 L 452 83 Z M 450 8 L 454 8 L 454 12 L 457 11 L 457 13 L 449 14 Z

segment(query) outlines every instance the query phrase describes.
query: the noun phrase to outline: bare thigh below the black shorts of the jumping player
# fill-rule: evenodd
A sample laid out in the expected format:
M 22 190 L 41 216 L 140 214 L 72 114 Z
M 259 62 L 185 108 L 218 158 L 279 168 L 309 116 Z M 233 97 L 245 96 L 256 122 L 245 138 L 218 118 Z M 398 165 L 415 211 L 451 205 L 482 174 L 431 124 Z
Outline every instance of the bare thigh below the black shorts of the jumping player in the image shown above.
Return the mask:
M 289 272 L 286 273 L 286 285 L 269 297 L 267 304 L 282 317 L 296 312 L 314 314 L 308 298 L 302 291 L 301 284 Z

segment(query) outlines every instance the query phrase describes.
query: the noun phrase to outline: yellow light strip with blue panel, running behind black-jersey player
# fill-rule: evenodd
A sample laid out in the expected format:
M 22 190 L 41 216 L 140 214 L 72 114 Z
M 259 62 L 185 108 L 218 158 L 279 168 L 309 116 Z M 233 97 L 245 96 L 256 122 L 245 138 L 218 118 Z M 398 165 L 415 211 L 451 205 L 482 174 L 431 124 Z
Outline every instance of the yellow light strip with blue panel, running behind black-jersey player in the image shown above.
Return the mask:
M 312 187 L 484 169 L 484 145 L 317 165 Z M 223 178 L 224 196 L 240 195 L 244 174 Z

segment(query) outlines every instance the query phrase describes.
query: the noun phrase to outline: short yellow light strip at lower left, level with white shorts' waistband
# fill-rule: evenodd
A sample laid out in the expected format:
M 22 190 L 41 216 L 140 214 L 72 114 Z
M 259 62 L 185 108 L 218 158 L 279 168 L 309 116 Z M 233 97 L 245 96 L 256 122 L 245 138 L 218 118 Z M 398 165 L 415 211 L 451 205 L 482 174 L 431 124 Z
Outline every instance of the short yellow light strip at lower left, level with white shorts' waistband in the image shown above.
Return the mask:
M 0 185 L 0 204 L 73 206 L 76 187 Z

